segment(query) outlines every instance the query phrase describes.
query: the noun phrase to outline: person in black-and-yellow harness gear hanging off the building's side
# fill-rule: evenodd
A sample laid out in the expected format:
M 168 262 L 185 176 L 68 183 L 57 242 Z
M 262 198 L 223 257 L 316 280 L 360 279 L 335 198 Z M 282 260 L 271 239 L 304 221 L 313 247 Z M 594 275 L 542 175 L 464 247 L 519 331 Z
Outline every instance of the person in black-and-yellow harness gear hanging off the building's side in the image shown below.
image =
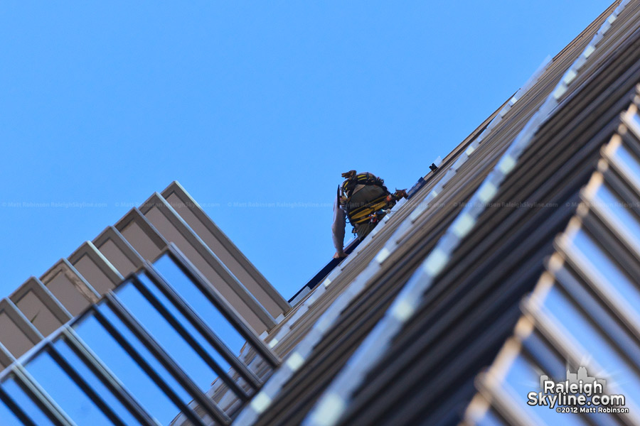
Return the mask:
M 387 209 L 393 207 L 400 198 L 407 198 L 406 190 L 396 190 L 391 194 L 385 187 L 385 181 L 372 173 L 349 170 L 342 173 L 342 177 L 345 181 L 338 187 L 334 200 L 334 223 L 331 225 L 336 259 L 346 257 L 343 244 L 347 217 L 353 226 L 353 234 L 364 239 L 387 214 Z

